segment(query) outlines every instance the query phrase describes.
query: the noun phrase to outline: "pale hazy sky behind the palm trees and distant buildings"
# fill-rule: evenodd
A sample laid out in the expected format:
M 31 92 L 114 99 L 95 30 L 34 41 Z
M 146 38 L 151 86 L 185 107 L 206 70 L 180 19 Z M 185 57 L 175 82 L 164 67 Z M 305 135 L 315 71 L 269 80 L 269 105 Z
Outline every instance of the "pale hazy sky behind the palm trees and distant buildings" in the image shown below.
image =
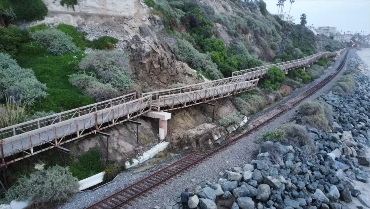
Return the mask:
M 264 0 L 267 10 L 276 14 L 277 0 Z M 283 13 L 289 13 L 289 0 L 285 1 Z M 307 24 L 314 27 L 331 26 L 341 31 L 365 31 L 370 33 L 370 0 L 296 0 L 290 15 L 300 24 L 300 15 L 306 13 Z

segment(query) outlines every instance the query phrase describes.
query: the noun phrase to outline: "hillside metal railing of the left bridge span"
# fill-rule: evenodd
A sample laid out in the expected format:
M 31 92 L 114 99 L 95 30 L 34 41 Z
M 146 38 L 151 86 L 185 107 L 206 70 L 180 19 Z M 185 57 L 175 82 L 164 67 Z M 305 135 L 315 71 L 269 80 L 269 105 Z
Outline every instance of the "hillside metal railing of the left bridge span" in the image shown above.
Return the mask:
M 78 107 L 76 109 L 67 110 L 61 113 L 56 113 L 54 115 L 49 115 L 38 119 L 30 120 L 27 122 L 19 123 L 13 126 L 4 127 L 0 129 L 0 139 L 6 139 L 7 137 L 16 136 L 21 133 L 36 130 L 41 127 L 49 126 L 55 123 L 72 119 L 74 117 L 90 114 L 92 112 L 120 105 L 122 103 L 126 103 L 135 99 L 136 93 L 130 93 L 113 99 L 94 103 L 91 105 Z

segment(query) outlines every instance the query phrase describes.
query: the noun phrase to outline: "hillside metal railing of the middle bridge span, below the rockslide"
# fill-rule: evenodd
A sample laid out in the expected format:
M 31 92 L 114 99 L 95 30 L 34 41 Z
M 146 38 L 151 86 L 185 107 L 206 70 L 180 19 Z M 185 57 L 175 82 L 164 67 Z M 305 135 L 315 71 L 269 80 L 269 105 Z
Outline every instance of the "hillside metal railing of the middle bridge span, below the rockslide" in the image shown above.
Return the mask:
M 218 80 L 211 80 L 211 81 L 203 82 L 203 83 L 192 84 L 192 85 L 178 87 L 174 89 L 165 89 L 165 90 L 158 90 L 155 92 L 142 93 L 141 96 L 147 96 L 147 95 L 152 94 L 152 100 L 158 100 L 160 96 L 192 92 L 192 91 L 197 91 L 201 89 L 209 89 L 209 88 L 216 87 L 216 86 L 223 86 L 226 84 L 242 82 L 245 80 L 246 80 L 246 76 L 240 75 L 240 76 L 228 77 L 228 78 L 223 78 L 223 79 L 218 79 Z

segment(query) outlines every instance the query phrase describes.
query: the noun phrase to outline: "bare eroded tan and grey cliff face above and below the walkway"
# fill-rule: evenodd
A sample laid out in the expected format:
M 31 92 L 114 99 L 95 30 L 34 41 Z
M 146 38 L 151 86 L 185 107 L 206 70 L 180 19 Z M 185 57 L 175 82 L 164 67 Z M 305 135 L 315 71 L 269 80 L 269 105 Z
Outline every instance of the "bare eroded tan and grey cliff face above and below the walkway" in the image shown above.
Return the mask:
M 101 36 L 112 36 L 119 40 L 115 50 L 122 50 L 130 57 L 131 71 L 137 86 L 135 91 L 166 89 L 174 83 L 194 84 L 202 82 L 196 71 L 186 63 L 178 61 L 173 53 L 176 44 L 174 37 L 164 31 L 164 20 L 150 14 L 149 8 L 139 0 L 84 0 L 78 1 L 75 11 L 62 7 L 60 0 L 45 0 L 48 15 L 40 23 L 70 24 L 87 33 L 89 40 Z M 217 4 L 217 6 L 220 6 Z M 222 9 L 223 7 L 220 6 Z M 220 25 L 219 36 L 229 39 L 224 26 Z M 216 29 L 218 30 L 218 29 Z M 87 49 L 85 53 L 91 52 Z M 166 141 L 173 152 L 211 147 L 214 143 L 227 138 L 223 127 L 217 121 L 236 113 L 229 98 L 215 100 L 215 122 L 212 123 L 213 107 L 197 105 L 171 111 L 168 121 Z M 110 134 L 108 142 L 109 159 L 124 162 L 158 143 L 158 119 L 138 117 L 139 145 L 137 144 L 136 126 L 123 123 L 105 129 Z M 217 136 L 218 140 L 214 140 Z M 73 153 L 81 154 L 89 149 L 101 150 L 105 157 L 106 137 L 90 135 L 68 144 Z

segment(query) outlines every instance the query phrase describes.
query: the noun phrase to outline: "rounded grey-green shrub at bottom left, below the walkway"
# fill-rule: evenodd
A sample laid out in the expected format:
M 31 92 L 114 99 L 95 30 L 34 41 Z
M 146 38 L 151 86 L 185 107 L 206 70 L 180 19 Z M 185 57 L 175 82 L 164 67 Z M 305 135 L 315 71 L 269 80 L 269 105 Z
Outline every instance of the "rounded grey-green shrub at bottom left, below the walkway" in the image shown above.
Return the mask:
M 77 191 L 78 180 L 69 168 L 53 166 L 20 178 L 5 193 L 2 201 L 30 201 L 31 204 L 43 205 L 67 200 Z

